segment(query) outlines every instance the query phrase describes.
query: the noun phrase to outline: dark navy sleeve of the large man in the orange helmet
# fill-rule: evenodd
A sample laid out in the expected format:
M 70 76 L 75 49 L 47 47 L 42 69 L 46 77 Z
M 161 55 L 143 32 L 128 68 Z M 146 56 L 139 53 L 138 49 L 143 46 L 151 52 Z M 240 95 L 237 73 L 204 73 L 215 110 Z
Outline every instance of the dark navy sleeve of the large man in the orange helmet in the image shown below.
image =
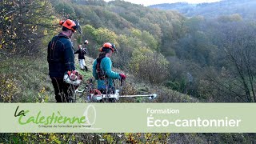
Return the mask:
M 64 62 L 66 71 L 75 70 L 74 67 L 74 50 L 71 42 L 67 42 L 64 49 Z

